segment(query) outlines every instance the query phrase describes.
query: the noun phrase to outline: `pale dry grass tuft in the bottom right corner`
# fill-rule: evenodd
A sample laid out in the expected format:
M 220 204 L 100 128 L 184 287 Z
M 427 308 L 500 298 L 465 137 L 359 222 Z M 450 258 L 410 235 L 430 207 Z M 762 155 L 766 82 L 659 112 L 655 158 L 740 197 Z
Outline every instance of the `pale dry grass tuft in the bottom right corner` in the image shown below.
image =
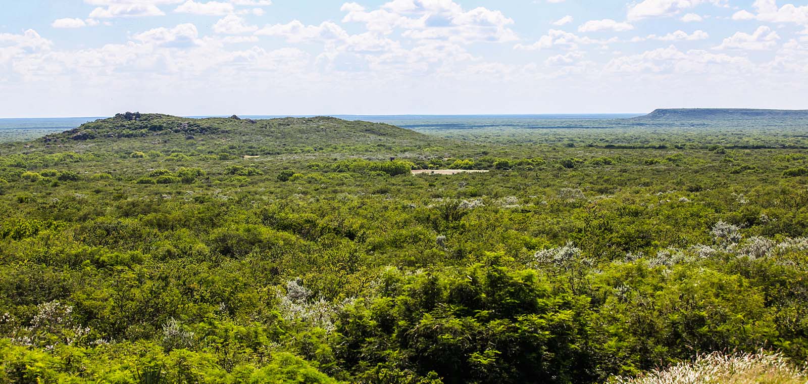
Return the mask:
M 658 369 L 610 384 L 806 384 L 808 373 L 780 353 L 713 352 L 696 361 Z

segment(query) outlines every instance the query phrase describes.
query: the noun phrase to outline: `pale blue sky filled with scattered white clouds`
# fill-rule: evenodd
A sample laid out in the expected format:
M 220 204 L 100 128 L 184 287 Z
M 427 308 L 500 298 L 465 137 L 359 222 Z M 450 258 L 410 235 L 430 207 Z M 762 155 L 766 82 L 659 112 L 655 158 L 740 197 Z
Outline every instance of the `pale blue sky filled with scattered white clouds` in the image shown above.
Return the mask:
M 808 109 L 808 0 L 0 0 L 0 117 Z

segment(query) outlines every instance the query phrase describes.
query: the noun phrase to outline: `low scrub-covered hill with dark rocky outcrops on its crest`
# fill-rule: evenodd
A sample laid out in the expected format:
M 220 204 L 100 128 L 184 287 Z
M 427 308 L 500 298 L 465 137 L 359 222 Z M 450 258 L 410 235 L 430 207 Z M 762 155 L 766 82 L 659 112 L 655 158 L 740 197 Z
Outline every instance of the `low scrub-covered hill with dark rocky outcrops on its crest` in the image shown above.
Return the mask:
M 334 117 L 270 120 L 215 117 L 192 119 L 162 114 L 118 114 L 82 124 L 76 129 L 42 137 L 36 144 L 62 150 L 149 150 L 222 146 L 244 154 L 423 148 L 436 139 L 409 129 Z M 440 139 L 439 139 L 440 141 Z M 162 147 L 162 148 L 161 148 Z M 240 150 L 240 151 L 238 151 Z

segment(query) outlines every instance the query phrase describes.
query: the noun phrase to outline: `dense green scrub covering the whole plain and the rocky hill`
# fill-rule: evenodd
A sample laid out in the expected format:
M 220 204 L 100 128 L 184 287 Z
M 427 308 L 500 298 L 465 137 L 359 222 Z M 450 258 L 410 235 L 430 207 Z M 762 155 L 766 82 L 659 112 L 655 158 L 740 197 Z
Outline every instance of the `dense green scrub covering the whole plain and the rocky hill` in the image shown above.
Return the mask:
M 0 382 L 804 382 L 805 122 L 547 124 L 0 144 Z

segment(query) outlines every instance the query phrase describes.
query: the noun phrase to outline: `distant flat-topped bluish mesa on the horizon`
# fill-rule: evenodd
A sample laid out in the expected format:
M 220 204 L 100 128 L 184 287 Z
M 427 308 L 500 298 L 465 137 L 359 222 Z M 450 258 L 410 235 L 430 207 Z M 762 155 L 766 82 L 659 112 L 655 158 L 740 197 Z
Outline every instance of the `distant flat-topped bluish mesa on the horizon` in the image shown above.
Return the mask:
M 636 120 L 725 120 L 765 118 L 808 118 L 808 109 L 745 109 L 745 108 L 660 108 Z

